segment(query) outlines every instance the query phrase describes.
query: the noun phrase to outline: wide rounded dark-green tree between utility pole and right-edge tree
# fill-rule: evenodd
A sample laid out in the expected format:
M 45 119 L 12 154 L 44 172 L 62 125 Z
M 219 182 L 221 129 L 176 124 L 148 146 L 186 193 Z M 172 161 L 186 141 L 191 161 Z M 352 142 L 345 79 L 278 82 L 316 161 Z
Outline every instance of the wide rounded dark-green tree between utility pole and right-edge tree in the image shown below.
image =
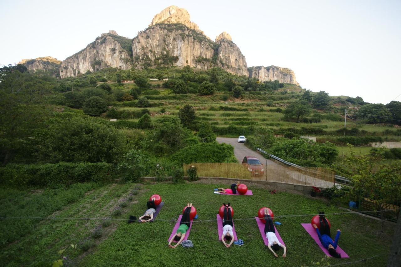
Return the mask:
M 367 104 L 356 113 L 365 123 L 387 123 L 391 121 L 391 112 L 383 104 Z

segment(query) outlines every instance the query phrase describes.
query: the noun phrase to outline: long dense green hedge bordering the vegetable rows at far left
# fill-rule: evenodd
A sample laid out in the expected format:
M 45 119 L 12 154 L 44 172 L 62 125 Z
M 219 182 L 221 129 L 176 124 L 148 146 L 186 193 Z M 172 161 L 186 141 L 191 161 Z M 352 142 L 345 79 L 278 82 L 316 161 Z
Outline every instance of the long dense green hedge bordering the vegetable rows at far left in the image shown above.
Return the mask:
M 101 182 L 110 179 L 110 170 L 111 164 L 105 162 L 8 164 L 0 168 L 0 183 L 21 187 Z

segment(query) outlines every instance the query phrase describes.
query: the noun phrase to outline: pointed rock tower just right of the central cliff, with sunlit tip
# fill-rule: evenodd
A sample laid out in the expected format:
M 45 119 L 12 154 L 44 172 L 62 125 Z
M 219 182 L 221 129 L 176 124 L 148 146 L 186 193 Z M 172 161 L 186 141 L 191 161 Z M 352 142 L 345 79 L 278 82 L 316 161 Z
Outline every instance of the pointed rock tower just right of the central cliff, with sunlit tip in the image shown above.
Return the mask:
M 222 32 L 216 37 L 217 66 L 225 69 L 229 73 L 248 76 L 247 61 L 241 50 L 233 41 L 227 32 Z

